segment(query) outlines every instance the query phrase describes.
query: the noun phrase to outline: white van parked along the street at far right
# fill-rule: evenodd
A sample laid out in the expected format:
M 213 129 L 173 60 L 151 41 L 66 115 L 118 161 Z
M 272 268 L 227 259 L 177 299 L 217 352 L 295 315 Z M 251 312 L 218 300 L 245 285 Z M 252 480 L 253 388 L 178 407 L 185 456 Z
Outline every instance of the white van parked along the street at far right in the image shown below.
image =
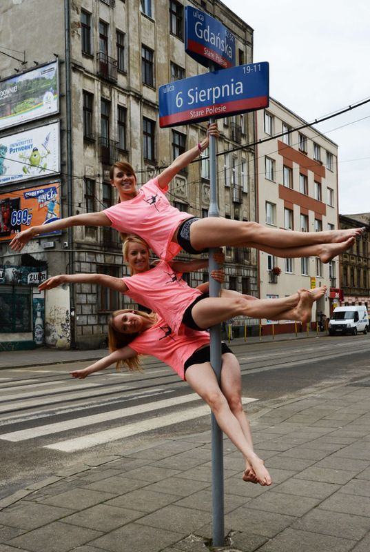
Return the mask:
M 369 331 L 369 316 L 364 305 L 337 306 L 329 320 L 329 334 L 358 332 L 367 334 Z

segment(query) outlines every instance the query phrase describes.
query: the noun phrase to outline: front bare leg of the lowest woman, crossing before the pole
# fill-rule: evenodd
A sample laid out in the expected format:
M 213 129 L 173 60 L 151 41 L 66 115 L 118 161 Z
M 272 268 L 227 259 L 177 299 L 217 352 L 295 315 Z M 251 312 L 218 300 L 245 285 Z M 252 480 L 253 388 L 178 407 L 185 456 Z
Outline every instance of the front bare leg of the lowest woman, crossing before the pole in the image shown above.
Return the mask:
M 200 395 L 212 409 L 220 429 L 229 437 L 229 440 L 243 454 L 246 462 L 253 468 L 258 482 L 261 485 L 271 485 L 269 472 L 253 448 L 245 439 L 237 418 L 229 408 L 225 395 L 223 395 L 216 375 L 209 362 L 193 364 L 186 371 L 186 380 L 189 385 Z

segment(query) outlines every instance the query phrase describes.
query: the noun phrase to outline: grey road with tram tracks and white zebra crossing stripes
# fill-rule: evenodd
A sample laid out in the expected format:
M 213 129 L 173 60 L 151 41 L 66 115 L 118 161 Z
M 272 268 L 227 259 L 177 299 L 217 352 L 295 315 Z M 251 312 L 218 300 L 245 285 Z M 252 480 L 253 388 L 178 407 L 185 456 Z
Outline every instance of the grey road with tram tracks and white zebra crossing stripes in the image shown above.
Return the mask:
M 369 336 L 232 348 L 249 413 L 370 373 Z M 85 380 L 72 380 L 69 367 L 0 372 L 0 498 L 95 457 L 209 429 L 209 408 L 155 359 L 145 359 L 143 373 L 109 368 Z

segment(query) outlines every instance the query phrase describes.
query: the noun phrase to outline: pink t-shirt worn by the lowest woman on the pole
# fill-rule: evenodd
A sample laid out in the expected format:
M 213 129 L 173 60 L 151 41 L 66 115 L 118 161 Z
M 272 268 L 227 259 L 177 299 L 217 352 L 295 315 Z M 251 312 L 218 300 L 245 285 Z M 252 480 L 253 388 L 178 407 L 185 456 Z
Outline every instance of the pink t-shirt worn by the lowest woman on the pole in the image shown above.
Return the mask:
M 156 324 L 136 337 L 129 347 L 141 355 L 153 355 L 162 360 L 185 380 L 185 362 L 204 345 L 209 345 L 207 332 L 188 329 L 186 334 L 175 335 L 166 322 L 158 318 Z

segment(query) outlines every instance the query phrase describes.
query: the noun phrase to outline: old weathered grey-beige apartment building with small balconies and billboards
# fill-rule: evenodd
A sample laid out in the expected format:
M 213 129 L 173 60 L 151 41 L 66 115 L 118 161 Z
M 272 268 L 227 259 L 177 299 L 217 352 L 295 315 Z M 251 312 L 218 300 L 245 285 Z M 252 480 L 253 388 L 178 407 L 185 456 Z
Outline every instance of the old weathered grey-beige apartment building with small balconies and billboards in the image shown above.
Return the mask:
M 22 205 L 31 187 L 39 206 L 46 204 L 37 194 L 41 188 L 49 190 L 50 217 L 56 216 L 57 209 L 61 217 L 67 217 L 107 208 L 116 202 L 109 179 L 114 161 L 129 161 L 143 184 L 201 141 L 205 124 L 163 130 L 158 126 L 158 87 L 206 70 L 185 54 L 184 8 L 188 3 L 209 12 L 234 33 L 236 63 L 253 60 L 253 30 L 218 0 L 1 1 L 0 85 L 4 94 L 16 91 L 14 77 L 30 77 L 32 71 L 51 63 L 56 67 L 54 97 L 59 101 L 52 114 L 14 119 L 0 128 L 1 145 L 11 144 L 13 135 L 26 133 L 28 137 L 52 126 L 54 155 L 59 159 L 51 172 L 39 170 L 31 175 L 28 163 L 19 180 L 4 177 L 0 201 L 6 217 L 10 207 L 15 208 L 14 197 Z M 30 13 L 37 13 L 32 25 Z M 45 92 L 48 97 L 50 93 Z M 219 128 L 220 215 L 255 220 L 254 147 L 234 150 L 254 143 L 254 115 L 221 119 Z M 44 150 L 42 144 L 48 144 L 46 138 L 36 149 L 47 156 L 45 150 L 50 148 Z M 179 209 L 207 216 L 207 159 L 183 170 L 172 181 L 169 197 Z M 110 228 L 74 227 L 33 239 L 22 255 L 16 255 L 8 248 L 10 231 L 5 226 L 0 230 L 4 230 L 3 235 L 0 231 L 0 303 L 10 321 L 0 324 L 0 342 L 8 348 L 35 342 L 60 348 L 96 347 L 105 342 L 107 317 L 128 305 L 125 297 L 88 284 L 63 286 L 44 295 L 37 292 L 37 283 L 46 275 L 65 272 L 126 275 L 118 233 Z M 256 252 L 227 249 L 225 270 L 226 286 L 257 295 Z M 207 279 L 206 271 L 188 277 L 192 286 L 203 279 Z

